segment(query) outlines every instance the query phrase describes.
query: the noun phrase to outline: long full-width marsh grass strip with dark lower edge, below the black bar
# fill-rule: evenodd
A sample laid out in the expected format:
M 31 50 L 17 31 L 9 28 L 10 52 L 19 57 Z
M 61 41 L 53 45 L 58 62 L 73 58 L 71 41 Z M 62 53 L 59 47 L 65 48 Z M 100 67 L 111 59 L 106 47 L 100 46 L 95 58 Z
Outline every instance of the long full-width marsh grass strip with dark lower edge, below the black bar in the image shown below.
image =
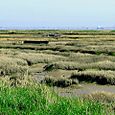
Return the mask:
M 65 40 L 66 41 L 66 40 Z M 60 41 L 61 42 L 61 41 Z M 98 41 L 101 42 L 101 41 Z M 105 41 L 106 42 L 106 41 Z M 97 41 L 95 42 L 95 44 Z M 114 41 L 112 41 L 114 43 Z M 83 45 L 84 44 L 84 45 Z M 81 43 L 77 43 L 75 46 L 74 45 L 33 45 L 33 44 L 28 44 L 28 45 L 12 45 L 12 44 L 0 44 L 0 48 L 11 48 L 11 49 L 27 49 L 27 50 L 51 50 L 51 51 L 59 51 L 59 52 L 81 52 L 85 54 L 95 54 L 95 55 L 100 55 L 100 54 L 106 54 L 110 56 L 114 56 L 114 44 L 110 45 L 89 45 L 89 42 L 87 44 L 84 43 L 84 41 L 81 41 Z

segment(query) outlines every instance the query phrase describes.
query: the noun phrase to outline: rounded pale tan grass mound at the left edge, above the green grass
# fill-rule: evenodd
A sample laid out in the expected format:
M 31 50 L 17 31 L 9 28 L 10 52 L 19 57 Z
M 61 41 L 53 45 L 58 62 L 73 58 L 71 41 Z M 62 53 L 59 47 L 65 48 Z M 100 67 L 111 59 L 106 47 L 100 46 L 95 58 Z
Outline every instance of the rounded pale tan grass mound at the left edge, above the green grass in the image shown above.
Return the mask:
M 0 75 L 21 75 L 27 74 L 28 66 L 26 61 L 7 56 L 0 57 Z

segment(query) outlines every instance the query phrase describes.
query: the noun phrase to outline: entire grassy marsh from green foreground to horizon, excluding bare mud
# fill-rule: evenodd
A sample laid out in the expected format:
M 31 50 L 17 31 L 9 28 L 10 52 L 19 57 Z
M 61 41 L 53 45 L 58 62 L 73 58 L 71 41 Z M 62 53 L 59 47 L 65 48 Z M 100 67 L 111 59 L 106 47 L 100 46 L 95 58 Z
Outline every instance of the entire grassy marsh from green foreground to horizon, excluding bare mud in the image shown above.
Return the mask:
M 55 33 L 61 37 L 48 37 Z M 61 87 L 73 84 L 74 79 L 115 85 L 114 35 L 114 31 L 0 30 L 1 40 L 8 43 L 19 39 L 51 42 L 34 45 L 1 41 L 0 114 L 106 115 L 111 108 L 109 113 L 114 115 L 113 94 L 96 92 L 88 96 L 90 99 L 59 97 L 49 87 L 38 84 L 34 76 L 28 75 L 29 69 L 36 73 L 39 70 L 73 70 L 75 72 L 69 78 L 52 76 L 45 80 L 49 85 Z

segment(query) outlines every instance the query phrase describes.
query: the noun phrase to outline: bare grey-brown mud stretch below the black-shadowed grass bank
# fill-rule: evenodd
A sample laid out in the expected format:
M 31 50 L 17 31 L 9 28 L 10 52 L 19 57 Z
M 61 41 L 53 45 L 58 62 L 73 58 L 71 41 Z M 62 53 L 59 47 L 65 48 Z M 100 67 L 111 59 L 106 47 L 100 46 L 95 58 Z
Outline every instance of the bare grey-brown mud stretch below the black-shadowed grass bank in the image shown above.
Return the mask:
M 81 84 L 78 87 L 71 88 L 54 88 L 60 96 L 82 96 L 94 92 L 108 92 L 115 94 L 115 86 L 97 85 L 97 84 Z

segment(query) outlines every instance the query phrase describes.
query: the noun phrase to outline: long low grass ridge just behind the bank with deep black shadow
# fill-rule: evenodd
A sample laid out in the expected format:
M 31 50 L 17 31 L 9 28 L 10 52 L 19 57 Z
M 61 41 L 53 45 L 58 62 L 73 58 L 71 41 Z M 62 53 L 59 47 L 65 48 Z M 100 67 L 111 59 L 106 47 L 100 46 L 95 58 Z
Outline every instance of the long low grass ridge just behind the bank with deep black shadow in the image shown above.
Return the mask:
M 45 70 L 62 69 L 62 70 L 78 70 L 84 71 L 87 69 L 97 69 L 97 70 L 115 70 L 115 64 L 111 61 L 100 61 L 94 63 L 81 63 L 80 62 L 70 62 L 70 61 L 59 61 L 52 64 L 47 64 Z

